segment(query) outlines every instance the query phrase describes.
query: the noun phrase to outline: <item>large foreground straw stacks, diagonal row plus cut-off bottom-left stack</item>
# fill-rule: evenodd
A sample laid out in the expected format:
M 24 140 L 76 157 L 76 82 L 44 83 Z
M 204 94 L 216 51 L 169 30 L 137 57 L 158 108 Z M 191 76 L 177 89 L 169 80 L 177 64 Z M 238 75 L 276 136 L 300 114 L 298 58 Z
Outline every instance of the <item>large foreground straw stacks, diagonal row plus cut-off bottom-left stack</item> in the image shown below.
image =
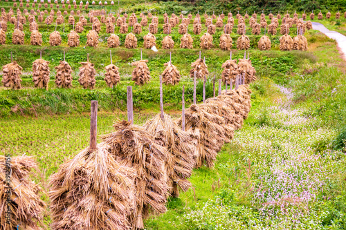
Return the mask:
M 208 73 L 206 66 L 194 67 L 196 78 Z M 91 147 L 62 164 L 49 179 L 51 229 L 143 229 L 144 218 L 167 210 L 169 196 L 178 197 L 190 188 L 192 169 L 214 166 L 221 146 L 242 127 L 251 108 L 251 90 L 244 82 L 238 76 L 235 89 L 226 84 L 221 92 L 219 87 L 217 97 L 192 104 L 186 111 L 183 101 L 183 115 L 175 121 L 163 113 L 161 84 L 161 113 L 143 126 L 131 120 L 118 122 L 100 144 L 92 128 Z M 97 113 L 95 104 L 91 108 Z M 97 120 L 95 113 L 91 117 Z M 6 185 L 3 180 L 0 189 L 3 213 L 9 205 L 12 222 L 1 218 L 1 227 L 42 229 L 46 204 L 39 195 L 43 191 L 28 177 L 35 162 L 30 157 L 12 161 L 12 181 Z M 0 159 L 0 175 L 6 178 L 2 162 L 5 157 Z M 12 191 L 10 203 L 6 203 L 6 189 Z

